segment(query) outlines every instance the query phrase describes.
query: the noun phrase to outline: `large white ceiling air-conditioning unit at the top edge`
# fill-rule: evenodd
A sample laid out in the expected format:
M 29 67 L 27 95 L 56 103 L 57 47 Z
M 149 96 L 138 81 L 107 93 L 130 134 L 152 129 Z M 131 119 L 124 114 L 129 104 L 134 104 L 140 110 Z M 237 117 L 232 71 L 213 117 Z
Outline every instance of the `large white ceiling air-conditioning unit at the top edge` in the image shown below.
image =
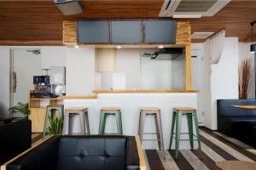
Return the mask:
M 160 17 L 200 18 L 213 16 L 230 0 L 165 0 Z

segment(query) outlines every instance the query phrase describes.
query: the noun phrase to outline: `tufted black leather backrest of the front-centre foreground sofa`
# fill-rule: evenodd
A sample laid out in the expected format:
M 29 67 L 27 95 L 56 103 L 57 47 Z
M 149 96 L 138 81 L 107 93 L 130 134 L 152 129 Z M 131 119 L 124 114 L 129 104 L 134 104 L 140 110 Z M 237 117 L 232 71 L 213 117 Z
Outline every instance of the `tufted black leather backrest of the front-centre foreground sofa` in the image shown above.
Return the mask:
M 126 137 L 63 136 L 58 153 L 59 170 L 125 169 Z

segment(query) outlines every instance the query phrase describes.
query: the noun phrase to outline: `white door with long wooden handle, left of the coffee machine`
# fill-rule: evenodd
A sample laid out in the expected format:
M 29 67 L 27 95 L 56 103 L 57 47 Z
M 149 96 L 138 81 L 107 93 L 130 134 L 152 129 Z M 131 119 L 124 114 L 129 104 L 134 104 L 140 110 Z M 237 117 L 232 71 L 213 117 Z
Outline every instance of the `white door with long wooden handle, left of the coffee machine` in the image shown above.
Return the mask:
M 12 49 L 11 106 L 28 102 L 33 76 L 42 74 L 42 54 L 38 49 Z

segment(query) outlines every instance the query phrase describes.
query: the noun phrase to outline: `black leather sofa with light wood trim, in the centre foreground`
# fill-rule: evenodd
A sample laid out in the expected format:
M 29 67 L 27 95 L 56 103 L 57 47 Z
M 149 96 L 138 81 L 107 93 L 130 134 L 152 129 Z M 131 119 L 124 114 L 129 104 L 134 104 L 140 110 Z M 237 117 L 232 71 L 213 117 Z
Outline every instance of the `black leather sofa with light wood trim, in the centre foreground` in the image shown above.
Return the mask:
M 7 170 L 139 170 L 135 137 L 53 136 Z

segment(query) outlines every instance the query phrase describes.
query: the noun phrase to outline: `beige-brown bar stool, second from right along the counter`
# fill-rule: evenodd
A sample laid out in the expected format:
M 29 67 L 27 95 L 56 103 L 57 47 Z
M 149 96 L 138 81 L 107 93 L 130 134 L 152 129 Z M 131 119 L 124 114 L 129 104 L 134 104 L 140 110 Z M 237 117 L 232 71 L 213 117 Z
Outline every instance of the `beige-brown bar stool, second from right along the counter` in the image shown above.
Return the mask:
M 156 133 L 144 133 L 144 122 L 146 116 L 154 116 Z M 140 109 L 140 119 L 139 119 L 139 129 L 138 134 L 143 142 L 143 134 L 156 134 L 157 139 L 147 139 L 147 140 L 157 140 L 158 146 L 160 150 L 164 150 L 164 139 L 163 139 L 163 132 L 162 132 L 162 123 L 161 123 L 161 116 L 160 116 L 160 109 L 159 108 L 152 108 L 152 107 L 144 107 Z

